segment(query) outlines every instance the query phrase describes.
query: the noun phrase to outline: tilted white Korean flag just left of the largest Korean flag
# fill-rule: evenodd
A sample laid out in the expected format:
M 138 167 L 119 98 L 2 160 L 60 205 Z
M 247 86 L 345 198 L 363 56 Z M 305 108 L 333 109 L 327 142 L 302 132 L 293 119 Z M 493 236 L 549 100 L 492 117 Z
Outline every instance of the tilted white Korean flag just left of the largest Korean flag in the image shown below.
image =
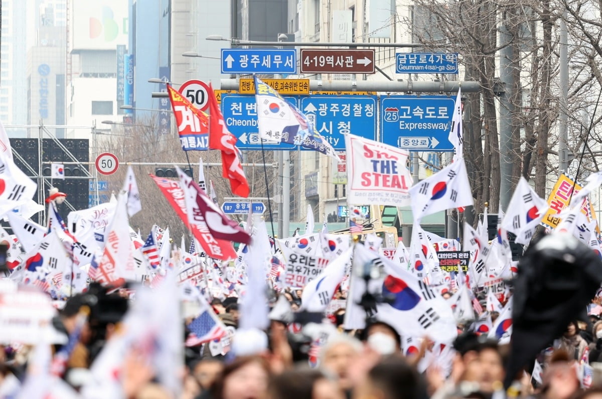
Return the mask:
M 308 312 L 324 312 L 332 300 L 335 290 L 345 276 L 347 263 L 351 258 L 352 248 L 348 248 L 341 256 L 330 262 L 326 268 L 303 289 L 300 310 Z

